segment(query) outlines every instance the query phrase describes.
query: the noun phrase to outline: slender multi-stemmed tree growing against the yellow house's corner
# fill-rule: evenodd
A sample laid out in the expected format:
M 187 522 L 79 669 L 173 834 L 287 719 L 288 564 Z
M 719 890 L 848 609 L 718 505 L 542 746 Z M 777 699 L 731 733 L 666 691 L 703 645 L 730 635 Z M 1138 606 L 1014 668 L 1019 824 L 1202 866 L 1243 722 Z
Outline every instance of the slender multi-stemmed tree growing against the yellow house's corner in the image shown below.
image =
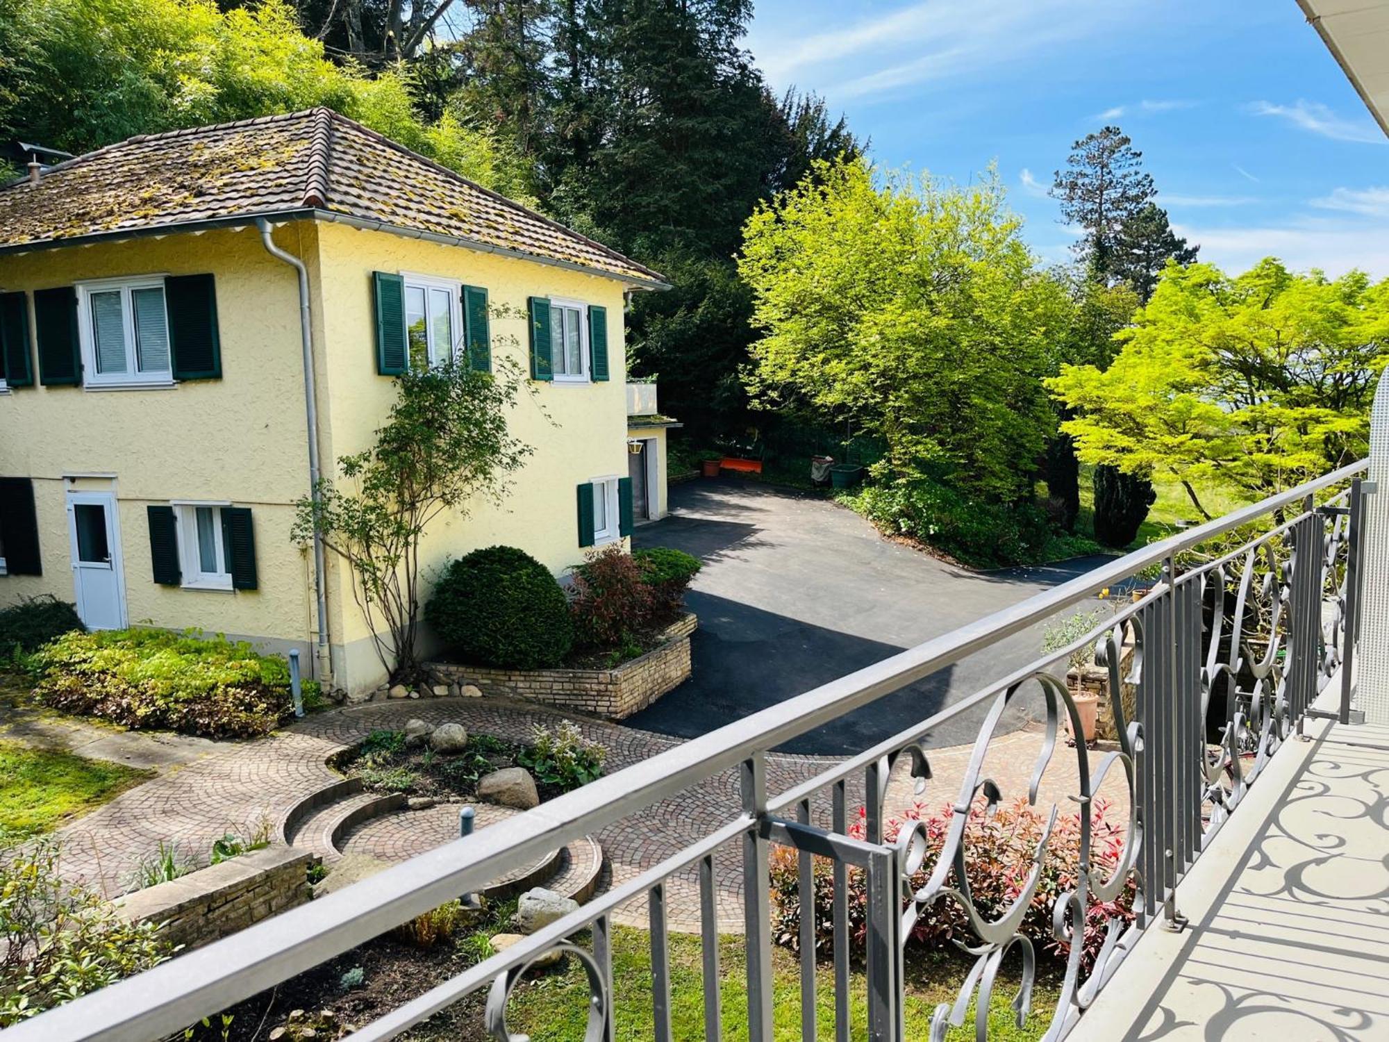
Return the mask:
M 446 514 L 500 503 L 531 453 L 507 432 L 521 374 L 446 363 L 396 378 L 399 390 L 369 449 L 338 460 L 339 479 L 296 503 L 293 535 L 317 532 L 347 565 L 353 596 L 392 679 L 414 679 L 419 621 L 419 542 Z

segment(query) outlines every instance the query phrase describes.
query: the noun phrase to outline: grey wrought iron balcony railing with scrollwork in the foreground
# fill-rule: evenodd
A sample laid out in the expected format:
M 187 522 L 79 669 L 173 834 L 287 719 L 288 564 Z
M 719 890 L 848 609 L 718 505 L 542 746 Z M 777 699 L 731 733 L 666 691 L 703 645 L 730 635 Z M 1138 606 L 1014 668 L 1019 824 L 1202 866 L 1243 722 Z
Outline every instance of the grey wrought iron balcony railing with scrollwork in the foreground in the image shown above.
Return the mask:
M 832 961 L 833 1034 L 850 1036 L 851 964 L 860 956 L 851 938 L 846 878 L 864 874 L 865 936 L 861 961 L 867 982 L 868 1035 L 897 1042 L 903 1023 L 903 948 L 917 917 L 942 902 L 954 902 L 974 934 L 974 954 L 960 998 L 942 1004 L 932 1038 L 961 1024 L 976 1000 L 976 1036 L 986 1036 L 989 999 L 1004 959 L 1021 952 L 1021 981 L 1014 1007 L 1031 1006 L 1036 959 L 1020 932 L 1051 829 L 1032 853 L 1032 866 L 1015 900 L 988 918 L 970 889 L 971 807 L 996 806 L 1003 797 L 985 774 L 985 753 L 1004 710 L 1031 692 L 1045 704 L 1028 786 L 1033 803 L 1049 764 L 1075 760 L 1075 791 L 1050 809 L 1079 816 L 1079 871 L 1074 889 L 1058 895 L 1053 929 L 1071 941 L 1089 910 L 1120 896 L 1136 881 L 1133 917 L 1113 917 L 1093 967 L 1082 974 L 1081 943 L 1070 945 L 1060 1002 L 1047 1039 L 1067 1034 L 1149 924 L 1179 925 L 1175 888 L 1206 843 L 1236 810 L 1270 756 L 1301 727 L 1317 697 L 1338 672 L 1339 707 L 1350 713 L 1350 656 L 1356 632 L 1360 517 L 1367 492 L 1364 464 L 1346 467 L 1263 503 L 1153 543 L 1126 557 L 1039 593 L 988 618 L 895 654 L 789 702 L 754 713 L 703 738 L 600 778 L 447 846 L 396 866 L 304 907 L 278 916 L 149 973 L 78 999 L 4 1032 L 6 1042 L 163 1038 L 324 960 L 346 952 L 460 893 L 475 891 L 507 868 L 672 797 L 701 781 L 736 771 L 740 807 L 725 820 L 703 822 L 707 834 L 636 878 L 613 886 L 576 913 L 525 938 L 506 952 L 361 1027 L 353 1039 L 388 1039 L 460 999 L 490 989 L 486 1025 L 497 1039 L 507 1028 L 507 999 L 536 959 L 557 948 L 583 967 L 590 999 L 589 1042 L 613 1039 L 614 913 L 644 903 L 651 949 L 651 1024 L 657 1042 L 672 1038 L 671 963 L 667 889 L 675 879 L 697 878 L 703 935 L 704 1035 L 721 1038 L 720 945 L 715 856 L 725 845 L 742 852 L 743 934 L 746 945 L 746 1018 L 753 1042 L 772 1038 L 772 959 L 768 853 L 772 845 L 799 854 L 800 893 L 813 891 L 814 859 L 833 866 Z M 1321 502 L 1317 502 L 1317 497 Z M 1214 547 L 1214 549 L 1211 549 Z M 1224 547 L 1224 549 L 1222 549 Z M 1204 549 L 1204 552 L 1203 552 Z M 1153 571 L 1157 570 L 1157 574 Z M 1101 589 L 1118 590 L 1143 577 L 1146 592 L 1121 603 L 1113 617 L 1068 647 L 889 741 L 783 792 L 768 786 L 767 753 L 775 746 L 921 681 L 971 653 L 989 649 Z M 1072 650 L 1097 643 L 1108 671 L 1117 742 L 1092 753 L 1083 742 L 1063 743 L 1061 724 L 1081 734 L 1076 702 L 1057 678 Z M 1132 693 L 1132 720 L 1125 710 Z M 949 720 L 986 710 L 983 724 L 951 806 L 943 843 L 931 849 L 920 824 L 907 821 L 888 835 L 888 782 L 896 766 L 908 766 L 917 785 L 929 784 L 932 750 L 924 738 Z M 826 761 L 828 763 L 828 761 Z M 1108 864 L 1092 860 L 1095 797 L 1107 778 L 1128 802 L 1122 852 Z M 863 828 L 850 828 L 857 802 Z M 925 878 L 924 884 L 920 881 Z M 914 884 L 917 879 L 918 884 Z M 817 1036 L 815 927 L 800 917 L 801 1035 Z M 588 941 L 574 938 L 585 934 Z M 1013 961 L 1008 963 L 1013 966 Z M 739 1017 L 745 1016 L 739 1010 Z M 689 1032 L 681 1032 L 689 1034 Z

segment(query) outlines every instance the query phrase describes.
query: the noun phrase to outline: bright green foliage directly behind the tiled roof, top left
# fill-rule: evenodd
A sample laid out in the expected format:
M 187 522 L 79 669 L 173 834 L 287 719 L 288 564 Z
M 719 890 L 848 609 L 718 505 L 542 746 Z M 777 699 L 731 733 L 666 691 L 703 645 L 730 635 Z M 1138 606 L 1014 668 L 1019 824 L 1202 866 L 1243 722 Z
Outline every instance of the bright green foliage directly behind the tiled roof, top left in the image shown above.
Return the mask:
M 283 0 L 225 13 L 207 0 L 6 3 L 0 33 L 22 49 L 0 63 L 0 131 L 24 140 L 81 153 L 324 104 L 503 195 L 529 195 L 529 164 L 463 107 L 425 122 L 408 69 L 369 76 L 329 61 Z

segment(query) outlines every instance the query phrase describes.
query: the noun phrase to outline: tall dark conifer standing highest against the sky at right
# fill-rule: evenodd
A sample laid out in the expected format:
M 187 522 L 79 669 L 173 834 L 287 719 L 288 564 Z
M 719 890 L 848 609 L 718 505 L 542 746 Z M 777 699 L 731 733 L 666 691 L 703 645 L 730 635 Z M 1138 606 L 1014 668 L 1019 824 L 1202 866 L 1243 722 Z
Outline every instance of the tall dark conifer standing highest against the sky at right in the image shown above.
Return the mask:
M 1075 142 L 1065 169 L 1056 172 L 1051 197 L 1061 203 L 1061 217 L 1085 229 L 1075 251 L 1100 278 L 1117 274 L 1114 253 L 1124 222 L 1157 195 L 1142 161 L 1126 133 L 1104 126 Z

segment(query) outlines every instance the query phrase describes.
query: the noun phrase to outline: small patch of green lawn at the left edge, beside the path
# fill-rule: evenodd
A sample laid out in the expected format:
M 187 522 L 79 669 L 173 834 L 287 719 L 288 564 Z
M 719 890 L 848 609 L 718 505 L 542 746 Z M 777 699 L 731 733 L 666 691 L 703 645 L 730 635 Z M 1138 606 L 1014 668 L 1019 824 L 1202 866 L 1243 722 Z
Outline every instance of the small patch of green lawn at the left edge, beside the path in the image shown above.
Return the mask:
M 107 760 L 0 742 L 0 846 L 51 832 L 153 775 Z

